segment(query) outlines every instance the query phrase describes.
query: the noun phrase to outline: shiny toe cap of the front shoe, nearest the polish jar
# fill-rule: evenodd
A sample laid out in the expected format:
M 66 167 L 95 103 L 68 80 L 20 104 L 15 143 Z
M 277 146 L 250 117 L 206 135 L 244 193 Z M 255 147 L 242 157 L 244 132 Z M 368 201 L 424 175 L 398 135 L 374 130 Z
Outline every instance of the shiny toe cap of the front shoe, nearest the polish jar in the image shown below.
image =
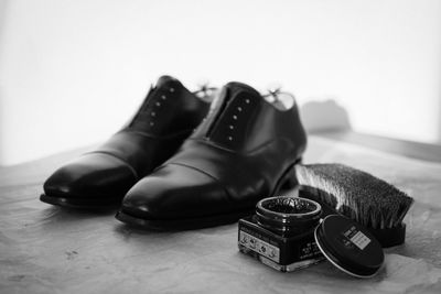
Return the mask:
M 141 179 L 125 197 L 122 209 L 141 218 L 175 219 L 198 215 L 201 206 L 228 200 L 212 176 L 192 167 L 170 164 Z

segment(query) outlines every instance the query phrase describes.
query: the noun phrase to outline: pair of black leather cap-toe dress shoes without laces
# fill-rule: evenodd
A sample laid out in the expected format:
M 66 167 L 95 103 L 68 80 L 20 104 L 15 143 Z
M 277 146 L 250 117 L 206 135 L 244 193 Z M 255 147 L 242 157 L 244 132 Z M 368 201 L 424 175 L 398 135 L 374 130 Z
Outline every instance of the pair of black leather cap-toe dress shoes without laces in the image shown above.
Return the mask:
M 236 221 L 295 183 L 306 135 L 294 102 L 280 107 L 241 83 L 206 98 L 161 77 L 126 127 L 46 179 L 41 200 L 120 205 L 123 222 L 183 229 Z

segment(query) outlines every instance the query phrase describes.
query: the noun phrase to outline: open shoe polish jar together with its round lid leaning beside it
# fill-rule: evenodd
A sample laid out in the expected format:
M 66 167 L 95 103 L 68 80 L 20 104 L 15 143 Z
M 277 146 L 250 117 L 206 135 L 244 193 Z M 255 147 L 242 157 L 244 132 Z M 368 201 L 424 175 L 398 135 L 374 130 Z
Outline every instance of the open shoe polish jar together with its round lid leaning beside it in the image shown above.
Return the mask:
M 255 215 L 239 220 L 239 250 L 282 272 L 327 259 L 353 276 L 375 275 L 384 252 L 372 233 L 343 216 L 321 216 L 322 208 L 314 200 L 265 198 L 257 204 Z

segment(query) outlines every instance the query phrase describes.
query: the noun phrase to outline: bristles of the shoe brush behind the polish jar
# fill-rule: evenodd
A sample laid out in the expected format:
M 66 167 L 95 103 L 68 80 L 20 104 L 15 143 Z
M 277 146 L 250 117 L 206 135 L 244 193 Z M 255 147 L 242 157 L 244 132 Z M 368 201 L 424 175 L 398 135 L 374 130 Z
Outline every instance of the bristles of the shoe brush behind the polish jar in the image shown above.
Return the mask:
M 413 199 L 368 173 L 343 164 L 299 165 L 300 186 L 312 188 L 318 202 L 374 229 L 401 225 Z

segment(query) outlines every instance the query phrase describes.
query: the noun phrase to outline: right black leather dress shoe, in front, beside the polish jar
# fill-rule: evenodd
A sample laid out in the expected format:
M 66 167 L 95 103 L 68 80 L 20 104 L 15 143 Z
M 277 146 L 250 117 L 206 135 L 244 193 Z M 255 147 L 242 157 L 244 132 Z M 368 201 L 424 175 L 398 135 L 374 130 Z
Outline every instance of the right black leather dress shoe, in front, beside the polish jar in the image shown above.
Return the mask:
M 153 229 L 228 224 L 295 184 L 306 135 L 293 100 L 280 109 L 251 87 L 229 83 L 213 104 L 178 153 L 128 192 L 119 220 Z

